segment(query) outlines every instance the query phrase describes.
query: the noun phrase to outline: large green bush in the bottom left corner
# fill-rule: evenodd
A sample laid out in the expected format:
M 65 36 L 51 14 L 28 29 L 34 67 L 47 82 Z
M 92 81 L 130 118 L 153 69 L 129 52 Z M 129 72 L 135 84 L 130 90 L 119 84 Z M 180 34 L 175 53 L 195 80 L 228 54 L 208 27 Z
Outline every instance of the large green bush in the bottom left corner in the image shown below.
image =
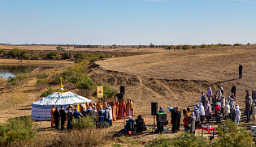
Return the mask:
M 12 142 L 28 140 L 36 136 L 36 133 L 30 116 L 11 119 L 7 124 L 0 124 L 0 145 L 6 146 Z

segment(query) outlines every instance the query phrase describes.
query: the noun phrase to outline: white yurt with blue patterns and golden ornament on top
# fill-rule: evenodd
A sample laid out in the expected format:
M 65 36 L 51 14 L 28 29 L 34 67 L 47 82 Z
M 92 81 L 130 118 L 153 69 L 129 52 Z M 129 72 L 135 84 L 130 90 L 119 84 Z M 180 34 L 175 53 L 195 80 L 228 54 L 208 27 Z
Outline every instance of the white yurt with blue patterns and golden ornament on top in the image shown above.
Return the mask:
M 50 120 L 50 111 L 53 105 L 55 105 L 55 107 L 63 106 L 65 110 L 69 105 L 90 102 L 92 102 L 92 100 L 86 99 L 85 97 L 74 94 L 70 91 L 66 91 L 61 85 L 61 88 L 58 92 L 54 92 L 53 94 L 50 94 L 32 103 L 31 117 L 33 120 Z

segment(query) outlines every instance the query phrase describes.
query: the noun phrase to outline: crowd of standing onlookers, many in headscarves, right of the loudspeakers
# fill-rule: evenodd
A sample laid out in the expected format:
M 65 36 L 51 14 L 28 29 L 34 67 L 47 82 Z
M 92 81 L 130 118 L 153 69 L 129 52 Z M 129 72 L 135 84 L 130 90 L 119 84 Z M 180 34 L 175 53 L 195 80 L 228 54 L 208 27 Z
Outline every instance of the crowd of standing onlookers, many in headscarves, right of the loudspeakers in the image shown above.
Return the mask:
M 191 133 L 195 133 L 196 126 L 202 127 L 205 119 L 206 126 L 209 126 L 210 123 L 223 125 L 223 120 L 230 119 L 236 123 L 236 127 L 238 128 L 241 111 L 238 103 L 236 103 L 236 85 L 232 84 L 231 94 L 228 92 L 228 98 L 226 98 L 223 93 L 223 87 L 219 87 L 219 90 L 215 92 L 212 92 L 209 87 L 206 95 L 202 92 L 201 103 L 197 103 L 195 107 L 193 107 L 193 111 L 191 111 L 190 107 L 184 108 L 184 131 L 187 132 L 190 130 Z M 252 90 L 251 96 L 248 90 L 245 90 L 245 93 L 246 123 L 253 120 L 254 125 L 256 125 L 255 90 Z M 171 131 L 177 132 L 180 130 L 179 108 L 174 106 L 173 108 L 168 108 L 168 110 L 171 111 Z M 215 117 L 215 122 L 210 122 L 212 117 Z

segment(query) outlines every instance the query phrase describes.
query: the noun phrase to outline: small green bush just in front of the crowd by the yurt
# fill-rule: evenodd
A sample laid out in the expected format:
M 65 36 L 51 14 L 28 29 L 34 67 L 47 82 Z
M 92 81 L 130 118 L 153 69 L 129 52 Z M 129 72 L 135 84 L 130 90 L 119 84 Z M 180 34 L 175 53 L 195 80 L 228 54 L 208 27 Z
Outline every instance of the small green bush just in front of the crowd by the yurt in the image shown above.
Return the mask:
M 92 116 L 84 116 L 81 120 L 74 119 L 72 121 L 72 127 L 76 129 L 87 129 L 87 128 L 95 128 L 94 118 Z

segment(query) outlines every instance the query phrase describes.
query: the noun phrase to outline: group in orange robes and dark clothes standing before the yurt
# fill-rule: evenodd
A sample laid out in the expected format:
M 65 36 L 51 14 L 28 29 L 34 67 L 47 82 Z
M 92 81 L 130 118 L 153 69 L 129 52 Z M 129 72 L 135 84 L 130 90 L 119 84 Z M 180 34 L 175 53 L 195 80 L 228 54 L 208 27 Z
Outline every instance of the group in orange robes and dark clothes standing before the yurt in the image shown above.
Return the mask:
M 125 103 L 124 99 L 116 99 L 115 102 L 105 102 L 105 103 L 85 103 L 80 105 L 78 109 L 75 107 L 67 107 L 64 110 L 63 106 L 51 108 L 51 127 L 59 128 L 59 123 L 61 124 L 61 129 L 64 128 L 64 124 L 67 123 L 67 128 L 72 129 L 72 120 L 81 118 L 89 115 L 92 116 L 94 122 L 100 127 L 103 128 L 108 124 L 112 126 L 112 121 L 117 119 L 124 119 L 134 116 L 132 100 L 128 99 L 128 102 Z

